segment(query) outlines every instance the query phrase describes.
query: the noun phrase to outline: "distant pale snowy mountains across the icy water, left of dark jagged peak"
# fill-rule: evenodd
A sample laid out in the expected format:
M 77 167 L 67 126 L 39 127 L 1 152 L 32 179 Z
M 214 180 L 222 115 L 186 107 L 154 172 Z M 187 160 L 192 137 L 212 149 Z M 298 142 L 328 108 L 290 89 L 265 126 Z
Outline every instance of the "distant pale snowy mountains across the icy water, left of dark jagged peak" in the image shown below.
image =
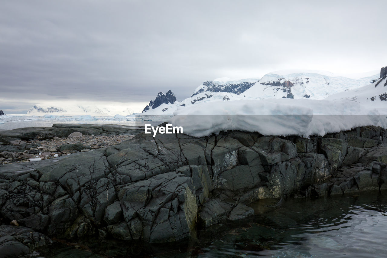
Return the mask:
M 125 108 L 120 105 L 79 105 L 77 103 L 69 103 L 65 108 L 34 105 L 27 112 L 27 115 L 92 115 L 92 116 L 114 116 L 114 115 L 132 115 L 131 108 Z

